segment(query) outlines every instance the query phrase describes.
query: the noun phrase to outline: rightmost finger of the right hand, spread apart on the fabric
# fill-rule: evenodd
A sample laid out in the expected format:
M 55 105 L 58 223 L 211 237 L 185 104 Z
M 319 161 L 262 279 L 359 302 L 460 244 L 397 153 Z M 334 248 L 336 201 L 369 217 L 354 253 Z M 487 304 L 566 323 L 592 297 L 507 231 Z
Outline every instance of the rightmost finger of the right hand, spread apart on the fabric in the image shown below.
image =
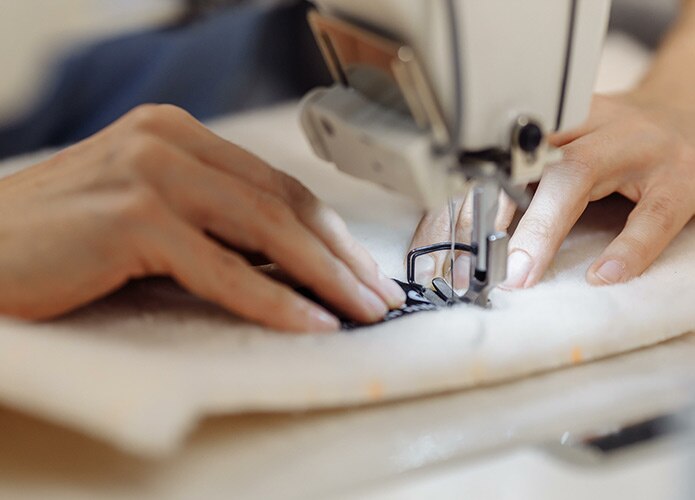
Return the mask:
M 593 285 L 624 283 L 640 276 L 693 216 L 676 189 L 652 191 L 640 200 L 625 228 L 587 272 Z

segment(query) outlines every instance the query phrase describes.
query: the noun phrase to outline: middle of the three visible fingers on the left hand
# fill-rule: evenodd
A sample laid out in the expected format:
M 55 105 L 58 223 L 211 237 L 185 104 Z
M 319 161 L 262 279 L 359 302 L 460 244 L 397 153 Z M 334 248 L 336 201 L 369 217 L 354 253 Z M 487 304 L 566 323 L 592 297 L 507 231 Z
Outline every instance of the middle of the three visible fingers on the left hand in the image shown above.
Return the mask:
M 188 221 L 245 251 L 262 252 L 292 278 L 357 321 L 383 318 L 387 305 L 296 217 L 280 198 L 201 165 L 160 151 L 170 165 L 153 175 L 170 206 Z

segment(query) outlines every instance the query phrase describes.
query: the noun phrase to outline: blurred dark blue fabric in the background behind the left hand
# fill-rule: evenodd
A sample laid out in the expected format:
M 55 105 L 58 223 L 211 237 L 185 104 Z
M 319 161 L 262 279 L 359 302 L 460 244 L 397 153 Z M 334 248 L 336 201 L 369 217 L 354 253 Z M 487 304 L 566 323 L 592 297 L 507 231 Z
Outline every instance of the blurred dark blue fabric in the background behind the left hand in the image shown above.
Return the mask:
M 0 127 L 0 157 L 79 141 L 143 103 L 204 120 L 301 95 L 327 74 L 303 2 L 220 10 L 185 26 L 83 47 L 26 117 Z

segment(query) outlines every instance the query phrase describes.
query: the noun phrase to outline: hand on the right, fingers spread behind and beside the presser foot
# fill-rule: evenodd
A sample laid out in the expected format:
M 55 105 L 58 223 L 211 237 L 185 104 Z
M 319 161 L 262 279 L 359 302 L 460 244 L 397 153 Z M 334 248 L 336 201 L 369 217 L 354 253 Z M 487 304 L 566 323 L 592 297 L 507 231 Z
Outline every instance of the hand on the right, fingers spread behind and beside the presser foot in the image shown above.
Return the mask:
M 596 96 L 586 125 L 552 137 L 551 142 L 562 148 L 564 160 L 546 168 L 511 238 L 505 287 L 538 283 L 588 203 L 612 193 L 622 194 L 636 206 L 621 234 L 588 269 L 587 280 L 594 285 L 639 276 L 695 214 L 692 111 L 637 91 Z M 509 225 L 510 207 L 509 202 L 502 204 L 499 229 Z M 448 230 L 442 231 L 438 220 L 441 215 L 423 219 L 414 246 L 448 239 Z M 470 216 L 464 210 L 459 235 L 470 232 L 469 227 Z M 439 257 L 437 265 L 445 257 Z M 463 273 L 467 266 L 465 257 L 461 259 L 455 270 Z M 455 274 L 457 283 L 466 281 L 465 272 Z

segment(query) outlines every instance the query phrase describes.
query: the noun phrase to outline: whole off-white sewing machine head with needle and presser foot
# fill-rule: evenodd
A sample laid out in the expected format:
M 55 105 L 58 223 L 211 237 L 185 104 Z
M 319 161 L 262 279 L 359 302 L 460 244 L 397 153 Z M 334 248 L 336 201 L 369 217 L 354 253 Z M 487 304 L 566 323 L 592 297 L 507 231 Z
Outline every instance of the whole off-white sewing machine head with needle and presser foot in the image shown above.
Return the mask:
M 315 3 L 310 22 L 335 85 L 302 105 L 314 151 L 425 208 L 449 200 L 451 241 L 411 253 L 408 281 L 420 255 L 450 250 L 453 266 L 454 251 L 470 252 L 463 295 L 441 278 L 432 285 L 448 303 L 487 306 L 507 274 L 508 235 L 495 229 L 500 192 L 525 208 L 526 185 L 561 159 L 548 134 L 585 120 L 610 0 Z M 469 192 L 464 244 L 455 241 L 454 200 Z

